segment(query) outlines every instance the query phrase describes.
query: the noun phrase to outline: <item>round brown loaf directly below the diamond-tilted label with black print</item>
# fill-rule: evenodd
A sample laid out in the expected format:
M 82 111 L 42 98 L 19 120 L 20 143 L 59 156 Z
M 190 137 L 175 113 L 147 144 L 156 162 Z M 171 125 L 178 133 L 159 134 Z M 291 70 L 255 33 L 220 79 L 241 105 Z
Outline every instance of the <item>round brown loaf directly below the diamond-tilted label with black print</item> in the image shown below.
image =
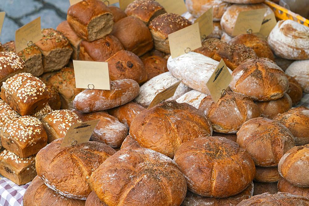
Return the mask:
M 260 117 L 253 100 L 235 92 L 226 92 L 217 103 L 208 95 L 198 109 L 210 120 L 213 130 L 221 133 L 236 133 L 247 120 Z

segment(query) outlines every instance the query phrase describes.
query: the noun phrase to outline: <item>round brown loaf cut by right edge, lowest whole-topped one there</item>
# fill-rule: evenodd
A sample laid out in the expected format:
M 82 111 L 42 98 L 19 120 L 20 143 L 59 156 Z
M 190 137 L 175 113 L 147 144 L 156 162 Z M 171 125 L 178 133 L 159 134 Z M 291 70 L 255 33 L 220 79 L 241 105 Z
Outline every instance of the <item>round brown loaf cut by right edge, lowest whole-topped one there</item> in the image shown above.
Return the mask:
M 280 159 L 280 175 L 298 187 L 309 187 L 309 145 L 295 146 Z

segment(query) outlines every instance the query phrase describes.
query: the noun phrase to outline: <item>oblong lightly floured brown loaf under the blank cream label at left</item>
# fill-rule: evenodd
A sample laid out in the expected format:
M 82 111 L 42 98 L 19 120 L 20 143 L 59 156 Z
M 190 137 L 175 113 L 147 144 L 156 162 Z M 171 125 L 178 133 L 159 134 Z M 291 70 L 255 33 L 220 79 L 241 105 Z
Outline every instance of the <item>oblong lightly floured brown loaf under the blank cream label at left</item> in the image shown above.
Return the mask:
M 75 96 L 73 106 L 81 112 L 102 111 L 132 101 L 139 92 L 139 85 L 132 79 L 110 82 L 110 90 L 87 89 Z

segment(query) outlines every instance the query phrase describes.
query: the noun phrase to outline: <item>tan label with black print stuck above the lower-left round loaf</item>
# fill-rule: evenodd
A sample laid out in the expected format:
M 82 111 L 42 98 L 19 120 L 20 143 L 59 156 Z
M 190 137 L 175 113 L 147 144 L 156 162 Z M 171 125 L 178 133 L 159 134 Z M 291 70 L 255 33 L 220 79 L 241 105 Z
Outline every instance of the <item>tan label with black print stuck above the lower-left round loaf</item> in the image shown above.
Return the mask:
M 77 145 L 89 141 L 91 134 L 99 121 L 100 120 L 92 120 L 72 124 L 66 132 L 66 136 L 64 137 L 60 147 Z

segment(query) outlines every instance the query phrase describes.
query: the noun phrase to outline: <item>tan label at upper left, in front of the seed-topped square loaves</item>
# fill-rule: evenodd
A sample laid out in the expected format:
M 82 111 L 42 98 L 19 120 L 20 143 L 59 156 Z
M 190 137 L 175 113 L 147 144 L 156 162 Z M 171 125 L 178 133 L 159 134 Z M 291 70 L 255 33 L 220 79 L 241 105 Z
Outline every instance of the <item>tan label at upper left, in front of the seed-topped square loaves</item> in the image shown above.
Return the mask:
M 15 32 L 16 53 L 42 39 L 41 17 L 20 27 Z

